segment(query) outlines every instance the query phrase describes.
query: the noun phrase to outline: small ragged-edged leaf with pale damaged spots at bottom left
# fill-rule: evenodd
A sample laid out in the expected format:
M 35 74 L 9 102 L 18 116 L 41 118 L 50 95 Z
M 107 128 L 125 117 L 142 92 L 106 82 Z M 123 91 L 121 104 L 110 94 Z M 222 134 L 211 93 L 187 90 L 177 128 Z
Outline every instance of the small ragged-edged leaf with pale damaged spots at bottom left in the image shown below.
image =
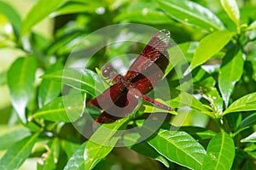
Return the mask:
M 55 169 L 60 154 L 60 141 L 55 138 L 50 140 L 45 147 L 47 152 L 38 161 L 38 170 Z

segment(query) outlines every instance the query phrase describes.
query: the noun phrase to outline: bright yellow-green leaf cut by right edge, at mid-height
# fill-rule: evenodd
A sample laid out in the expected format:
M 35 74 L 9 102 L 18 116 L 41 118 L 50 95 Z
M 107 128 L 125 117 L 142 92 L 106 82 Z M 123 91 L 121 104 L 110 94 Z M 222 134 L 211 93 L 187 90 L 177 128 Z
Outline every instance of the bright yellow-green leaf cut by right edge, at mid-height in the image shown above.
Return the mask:
M 240 99 L 236 99 L 222 114 L 222 116 L 236 111 L 255 111 L 256 93 L 247 94 Z

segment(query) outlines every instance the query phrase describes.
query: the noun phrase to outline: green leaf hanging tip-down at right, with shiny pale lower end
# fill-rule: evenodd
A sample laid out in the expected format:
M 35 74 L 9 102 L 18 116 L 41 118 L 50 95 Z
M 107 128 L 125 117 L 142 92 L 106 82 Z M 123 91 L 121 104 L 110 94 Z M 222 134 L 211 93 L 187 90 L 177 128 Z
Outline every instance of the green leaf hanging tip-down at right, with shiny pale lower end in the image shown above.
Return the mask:
M 236 49 L 231 48 L 224 57 L 218 77 L 218 87 L 226 107 L 229 105 L 230 95 L 237 81 L 240 80 L 243 63 L 241 51 L 236 54 Z

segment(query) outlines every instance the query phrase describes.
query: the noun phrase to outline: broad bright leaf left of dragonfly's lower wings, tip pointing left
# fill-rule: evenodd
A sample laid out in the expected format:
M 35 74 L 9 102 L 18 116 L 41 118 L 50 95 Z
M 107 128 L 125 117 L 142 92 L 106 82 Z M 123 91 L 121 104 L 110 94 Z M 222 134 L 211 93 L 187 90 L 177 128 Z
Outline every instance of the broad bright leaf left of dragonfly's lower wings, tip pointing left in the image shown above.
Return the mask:
M 84 99 L 83 99 L 84 98 Z M 44 105 L 32 118 L 43 118 L 53 122 L 75 122 L 84 112 L 84 94 L 68 94 Z

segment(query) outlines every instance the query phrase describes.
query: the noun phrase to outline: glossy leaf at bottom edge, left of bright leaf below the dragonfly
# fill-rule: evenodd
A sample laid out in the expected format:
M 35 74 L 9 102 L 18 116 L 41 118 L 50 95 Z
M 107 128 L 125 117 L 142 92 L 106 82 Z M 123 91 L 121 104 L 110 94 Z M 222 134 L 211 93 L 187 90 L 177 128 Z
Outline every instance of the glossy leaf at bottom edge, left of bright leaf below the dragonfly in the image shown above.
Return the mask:
M 79 149 L 76 150 L 73 153 L 73 156 L 67 161 L 67 165 L 64 167 L 64 170 L 84 170 L 85 165 L 84 165 L 84 148 L 87 142 L 84 142 L 84 144 L 81 144 L 79 146 Z

